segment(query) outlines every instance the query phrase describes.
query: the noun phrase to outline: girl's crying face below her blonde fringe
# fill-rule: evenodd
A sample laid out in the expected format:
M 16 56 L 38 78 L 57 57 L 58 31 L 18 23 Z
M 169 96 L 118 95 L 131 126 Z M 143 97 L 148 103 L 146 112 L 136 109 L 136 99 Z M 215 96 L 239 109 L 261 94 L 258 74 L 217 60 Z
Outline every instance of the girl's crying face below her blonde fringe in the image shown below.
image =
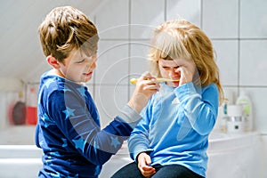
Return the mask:
M 178 70 L 181 60 L 158 60 L 158 69 L 161 77 L 169 78 L 173 80 L 180 79 L 181 72 Z M 167 82 L 166 85 L 177 87 L 179 82 Z

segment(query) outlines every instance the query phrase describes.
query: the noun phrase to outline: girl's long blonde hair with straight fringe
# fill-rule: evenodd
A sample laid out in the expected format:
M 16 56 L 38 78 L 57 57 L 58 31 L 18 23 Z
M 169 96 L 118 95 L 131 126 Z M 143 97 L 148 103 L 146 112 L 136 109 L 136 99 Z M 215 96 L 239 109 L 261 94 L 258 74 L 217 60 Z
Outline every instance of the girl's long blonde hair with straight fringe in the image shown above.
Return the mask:
M 150 72 L 160 77 L 158 60 L 193 60 L 198 69 L 201 86 L 216 84 L 223 101 L 219 69 L 214 61 L 210 39 L 197 26 L 186 20 L 170 20 L 155 29 L 149 54 Z

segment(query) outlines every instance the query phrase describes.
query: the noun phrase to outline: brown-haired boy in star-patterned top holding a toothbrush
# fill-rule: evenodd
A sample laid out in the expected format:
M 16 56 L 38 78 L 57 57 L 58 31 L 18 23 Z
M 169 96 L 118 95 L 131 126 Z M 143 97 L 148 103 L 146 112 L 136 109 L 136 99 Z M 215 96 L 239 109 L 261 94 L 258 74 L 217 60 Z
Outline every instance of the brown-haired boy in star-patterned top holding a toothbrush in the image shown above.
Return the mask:
M 36 146 L 44 151 L 39 177 L 98 177 L 140 120 L 139 112 L 158 84 L 143 75 L 131 100 L 104 129 L 83 83 L 96 67 L 97 29 L 74 7 L 54 8 L 38 29 L 53 69 L 40 79 Z

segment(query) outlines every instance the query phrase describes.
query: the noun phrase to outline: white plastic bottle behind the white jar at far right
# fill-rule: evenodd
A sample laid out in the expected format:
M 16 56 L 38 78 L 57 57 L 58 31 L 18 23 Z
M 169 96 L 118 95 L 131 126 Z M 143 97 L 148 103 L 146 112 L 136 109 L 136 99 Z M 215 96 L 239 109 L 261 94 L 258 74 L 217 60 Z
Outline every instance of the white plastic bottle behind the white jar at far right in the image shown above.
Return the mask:
M 253 131 L 253 116 L 252 116 L 252 102 L 250 98 L 247 96 L 247 93 L 244 91 L 241 91 L 239 98 L 237 99 L 236 104 L 242 106 L 242 115 L 243 117 L 246 117 L 246 131 Z

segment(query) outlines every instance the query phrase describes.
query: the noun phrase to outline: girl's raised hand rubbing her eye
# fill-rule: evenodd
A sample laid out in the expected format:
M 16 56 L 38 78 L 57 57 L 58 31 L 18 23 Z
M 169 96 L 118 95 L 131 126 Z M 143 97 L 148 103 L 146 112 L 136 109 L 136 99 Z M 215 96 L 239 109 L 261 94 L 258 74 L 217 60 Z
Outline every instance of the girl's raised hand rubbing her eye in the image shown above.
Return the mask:
M 189 83 L 193 80 L 196 70 L 196 64 L 192 60 L 179 60 L 179 68 L 175 72 L 179 72 L 181 77 L 179 81 L 179 86 Z

